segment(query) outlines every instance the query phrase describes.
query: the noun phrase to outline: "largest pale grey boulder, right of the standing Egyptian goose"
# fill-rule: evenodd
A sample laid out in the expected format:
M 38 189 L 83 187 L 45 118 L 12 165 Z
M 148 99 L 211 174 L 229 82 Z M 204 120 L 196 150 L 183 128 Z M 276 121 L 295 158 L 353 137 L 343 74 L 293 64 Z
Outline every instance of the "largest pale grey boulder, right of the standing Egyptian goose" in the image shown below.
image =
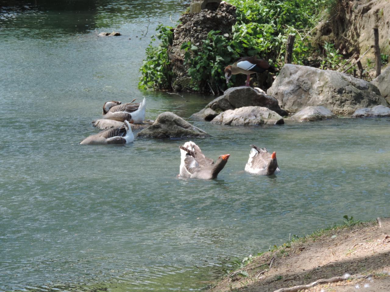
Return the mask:
M 387 106 L 378 88 L 362 79 L 313 67 L 286 64 L 267 93 L 291 113 L 307 106 L 325 106 L 335 114 L 361 107 Z

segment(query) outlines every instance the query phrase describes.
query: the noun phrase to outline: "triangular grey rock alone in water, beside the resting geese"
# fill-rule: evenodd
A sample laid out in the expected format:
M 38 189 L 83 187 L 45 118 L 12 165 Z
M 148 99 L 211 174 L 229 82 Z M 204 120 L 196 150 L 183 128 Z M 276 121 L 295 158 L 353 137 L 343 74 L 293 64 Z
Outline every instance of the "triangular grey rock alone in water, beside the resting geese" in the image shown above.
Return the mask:
M 203 130 L 191 125 L 188 121 L 174 113 L 166 111 L 156 118 L 154 123 L 138 133 L 137 137 L 151 138 L 181 138 L 181 137 L 206 137 L 209 136 Z

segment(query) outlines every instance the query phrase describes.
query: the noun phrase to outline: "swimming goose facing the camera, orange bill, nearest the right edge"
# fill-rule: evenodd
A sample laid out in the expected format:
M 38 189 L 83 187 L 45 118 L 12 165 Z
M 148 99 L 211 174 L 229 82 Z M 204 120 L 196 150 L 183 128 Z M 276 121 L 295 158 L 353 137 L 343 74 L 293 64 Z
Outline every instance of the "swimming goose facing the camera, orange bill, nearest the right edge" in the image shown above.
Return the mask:
M 248 163 L 245 165 L 245 171 L 267 176 L 280 172 L 276 152 L 270 154 L 267 148 L 259 149 L 255 145 L 250 146 L 252 149 L 249 153 Z

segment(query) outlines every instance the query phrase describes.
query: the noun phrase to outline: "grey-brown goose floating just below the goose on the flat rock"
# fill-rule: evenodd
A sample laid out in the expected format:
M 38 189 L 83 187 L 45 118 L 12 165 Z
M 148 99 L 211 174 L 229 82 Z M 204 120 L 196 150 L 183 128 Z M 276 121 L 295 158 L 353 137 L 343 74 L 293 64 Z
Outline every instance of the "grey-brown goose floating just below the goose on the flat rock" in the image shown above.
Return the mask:
M 134 141 L 134 135 L 128 121 L 124 121 L 121 127 L 104 130 L 96 135 L 85 138 L 80 144 L 126 144 Z

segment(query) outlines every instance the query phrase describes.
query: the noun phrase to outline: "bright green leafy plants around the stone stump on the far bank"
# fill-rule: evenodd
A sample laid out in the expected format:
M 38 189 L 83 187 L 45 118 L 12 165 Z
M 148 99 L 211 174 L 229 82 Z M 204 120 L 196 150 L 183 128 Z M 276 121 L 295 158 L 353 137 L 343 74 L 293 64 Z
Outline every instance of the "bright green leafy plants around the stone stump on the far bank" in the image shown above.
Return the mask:
M 232 26 L 229 37 L 219 31 L 209 32 L 200 46 L 185 43 L 181 47 L 186 53 L 184 63 L 188 66 L 189 86 L 193 91 L 204 88 L 225 90 L 235 82 L 232 77 L 226 84 L 225 66 L 241 56 L 257 56 L 280 68 L 284 63 L 285 43 L 290 34 L 296 35 L 293 63 L 307 64 L 314 49 L 309 37 L 312 28 L 319 21 L 325 8 L 333 0 L 229 0 L 236 6 L 237 22 Z M 159 26 L 158 39 L 161 44 L 149 45 L 139 87 L 142 89 L 170 89 L 172 70 L 169 66 L 168 46 L 172 43 L 170 27 Z M 331 44 L 324 49 L 323 68 L 335 68 L 341 62 L 341 55 Z M 321 53 L 317 52 L 317 55 Z M 353 70 L 353 69 L 352 69 Z M 208 86 L 207 86 L 208 85 Z M 207 87 L 206 87 L 207 86 Z

